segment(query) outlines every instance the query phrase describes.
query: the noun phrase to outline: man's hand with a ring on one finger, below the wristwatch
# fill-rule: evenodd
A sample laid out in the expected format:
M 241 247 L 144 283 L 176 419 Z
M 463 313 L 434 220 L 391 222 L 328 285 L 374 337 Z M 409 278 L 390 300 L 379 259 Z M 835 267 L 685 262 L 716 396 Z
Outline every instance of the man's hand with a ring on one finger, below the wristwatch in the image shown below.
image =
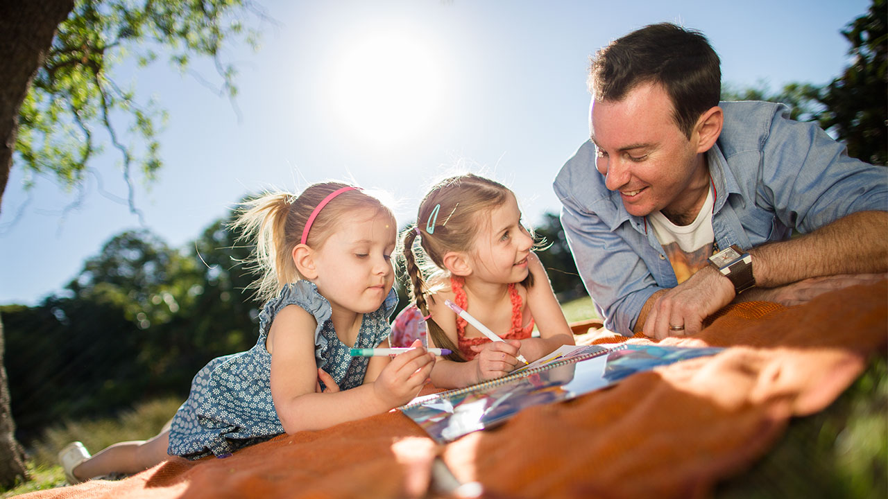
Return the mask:
M 687 281 L 665 290 L 647 313 L 647 337 L 690 336 L 699 333 L 703 320 L 731 303 L 735 293 L 731 281 L 711 266 L 694 273 Z

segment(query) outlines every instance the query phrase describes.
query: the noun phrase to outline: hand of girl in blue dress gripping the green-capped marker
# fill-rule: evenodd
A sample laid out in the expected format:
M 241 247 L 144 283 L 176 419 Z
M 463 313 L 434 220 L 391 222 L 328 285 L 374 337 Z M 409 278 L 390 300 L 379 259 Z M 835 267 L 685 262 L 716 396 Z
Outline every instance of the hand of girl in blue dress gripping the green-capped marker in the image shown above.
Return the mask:
M 426 352 L 418 339 L 410 345 L 409 352 L 395 356 L 373 383 L 373 390 L 389 407 L 402 406 L 416 397 L 432 373 L 435 356 Z

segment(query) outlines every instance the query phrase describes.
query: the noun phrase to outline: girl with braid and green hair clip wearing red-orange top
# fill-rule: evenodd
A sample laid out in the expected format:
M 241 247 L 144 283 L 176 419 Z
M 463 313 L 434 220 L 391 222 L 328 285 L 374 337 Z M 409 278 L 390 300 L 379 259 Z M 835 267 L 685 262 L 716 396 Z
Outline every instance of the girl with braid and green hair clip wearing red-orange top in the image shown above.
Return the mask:
M 421 248 L 415 251 L 417 239 Z M 519 353 L 533 361 L 574 344 L 532 251 L 534 240 L 521 225 L 515 195 L 505 186 L 472 174 L 441 181 L 425 195 L 416 227 L 404 233 L 403 242 L 419 320 L 431 319 L 429 344 L 453 351 L 432 369 L 435 386 L 460 387 L 503 376 L 515 368 Z M 491 342 L 445 300 L 505 341 Z M 534 321 L 539 337 L 531 337 Z M 402 335 L 403 321 L 395 322 L 398 330 L 392 334 Z

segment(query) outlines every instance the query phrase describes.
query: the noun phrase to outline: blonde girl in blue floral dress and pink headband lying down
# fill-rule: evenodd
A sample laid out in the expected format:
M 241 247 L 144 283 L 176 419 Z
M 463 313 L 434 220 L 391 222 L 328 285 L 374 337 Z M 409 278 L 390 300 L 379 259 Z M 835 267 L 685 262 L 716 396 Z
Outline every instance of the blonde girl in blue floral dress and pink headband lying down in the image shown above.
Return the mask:
M 226 457 L 281 433 L 317 430 L 382 413 L 411 400 L 434 356 L 415 350 L 351 357 L 349 349 L 388 346 L 392 212 L 361 189 L 334 182 L 297 196 L 267 194 L 245 203 L 234 223 L 255 238 L 254 283 L 266 305 L 247 352 L 210 360 L 170 429 L 90 457 L 79 442 L 59 455 L 75 483 L 134 473 L 170 457 Z

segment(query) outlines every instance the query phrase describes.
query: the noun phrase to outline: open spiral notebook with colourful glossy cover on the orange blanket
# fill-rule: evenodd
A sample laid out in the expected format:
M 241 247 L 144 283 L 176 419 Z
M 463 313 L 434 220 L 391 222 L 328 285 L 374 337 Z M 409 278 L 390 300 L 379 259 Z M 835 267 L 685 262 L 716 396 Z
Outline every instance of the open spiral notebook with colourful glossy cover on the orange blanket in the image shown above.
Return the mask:
M 502 423 L 521 409 L 570 400 L 657 366 L 721 348 L 660 345 L 566 345 L 506 376 L 417 397 L 399 409 L 445 443 Z

